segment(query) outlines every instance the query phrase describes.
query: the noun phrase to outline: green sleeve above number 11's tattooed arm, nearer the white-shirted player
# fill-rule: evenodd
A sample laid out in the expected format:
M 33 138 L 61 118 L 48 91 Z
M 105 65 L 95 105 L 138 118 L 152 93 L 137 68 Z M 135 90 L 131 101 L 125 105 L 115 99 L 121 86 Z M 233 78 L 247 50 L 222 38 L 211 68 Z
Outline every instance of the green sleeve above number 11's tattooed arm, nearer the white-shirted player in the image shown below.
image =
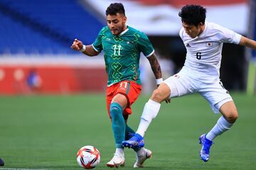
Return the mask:
M 151 44 L 149 38 L 146 36 L 146 34 L 141 33 L 139 35 L 139 41 L 138 41 L 138 45 L 139 45 L 139 50 L 142 51 L 142 53 L 146 56 L 149 57 L 151 55 L 153 55 L 154 53 L 154 47 Z

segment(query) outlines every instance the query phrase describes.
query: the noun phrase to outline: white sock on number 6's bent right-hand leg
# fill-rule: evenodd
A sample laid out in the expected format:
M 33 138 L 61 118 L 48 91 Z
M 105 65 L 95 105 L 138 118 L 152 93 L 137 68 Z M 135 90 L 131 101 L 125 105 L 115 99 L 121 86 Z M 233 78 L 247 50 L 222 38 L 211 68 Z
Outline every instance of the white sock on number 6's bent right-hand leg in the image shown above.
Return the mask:
M 208 140 L 211 140 L 213 141 L 213 139 L 218 136 L 218 135 L 221 135 L 223 134 L 223 132 L 229 130 L 231 128 L 233 124 L 231 123 L 228 123 L 227 120 L 225 120 L 225 118 L 223 116 L 221 116 L 216 125 L 213 127 L 212 130 L 210 130 L 210 132 L 208 132 L 208 134 L 206 135 L 206 138 Z

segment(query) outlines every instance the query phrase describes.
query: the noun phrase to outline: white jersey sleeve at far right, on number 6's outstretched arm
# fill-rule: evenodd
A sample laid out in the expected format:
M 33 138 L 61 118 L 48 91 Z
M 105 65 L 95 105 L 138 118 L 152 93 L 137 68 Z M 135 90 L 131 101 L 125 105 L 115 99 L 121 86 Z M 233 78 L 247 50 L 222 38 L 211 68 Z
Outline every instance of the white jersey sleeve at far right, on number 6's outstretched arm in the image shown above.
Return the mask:
M 242 35 L 222 26 L 216 26 L 216 28 L 218 28 L 218 34 L 220 35 L 220 42 L 239 44 Z

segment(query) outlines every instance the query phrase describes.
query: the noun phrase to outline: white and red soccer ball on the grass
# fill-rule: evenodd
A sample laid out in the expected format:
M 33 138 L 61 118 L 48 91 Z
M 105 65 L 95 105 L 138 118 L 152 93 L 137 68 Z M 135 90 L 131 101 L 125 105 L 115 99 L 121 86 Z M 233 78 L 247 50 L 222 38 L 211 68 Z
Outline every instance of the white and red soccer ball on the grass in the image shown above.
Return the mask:
M 85 169 L 93 169 L 100 164 L 100 152 L 96 147 L 87 145 L 78 150 L 77 161 Z

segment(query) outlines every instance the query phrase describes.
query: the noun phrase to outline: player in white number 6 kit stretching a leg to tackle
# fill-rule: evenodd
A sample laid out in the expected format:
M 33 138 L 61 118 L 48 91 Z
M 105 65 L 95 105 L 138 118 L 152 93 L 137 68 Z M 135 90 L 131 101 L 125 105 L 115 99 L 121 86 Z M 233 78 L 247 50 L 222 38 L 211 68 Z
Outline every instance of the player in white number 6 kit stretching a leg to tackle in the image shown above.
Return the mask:
M 178 74 L 166 79 L 153 91 L 145 104 L 139 128 L 134 137 L 124 140 L 124 147 L 143 147 L 144 134 L 151 120 L 159 113 L 161 102 L 186 94 L 198 92 L 206 98 L 215 113 L 222 115 L 215 126 L 199 137 L 202 145 L 200 157 L 208 162 L 213 139 L 229 130 L 238 119 L 238 111 L 228 91 L 220 81 L 220 61 L 223 42 L 244 45 L 256 49 L 255 40 L 215 23 L 207 23 L 206 8 L 186 5 L 178 13 L 182 26 L 179 35 L 186 46 L 186 61 Z

